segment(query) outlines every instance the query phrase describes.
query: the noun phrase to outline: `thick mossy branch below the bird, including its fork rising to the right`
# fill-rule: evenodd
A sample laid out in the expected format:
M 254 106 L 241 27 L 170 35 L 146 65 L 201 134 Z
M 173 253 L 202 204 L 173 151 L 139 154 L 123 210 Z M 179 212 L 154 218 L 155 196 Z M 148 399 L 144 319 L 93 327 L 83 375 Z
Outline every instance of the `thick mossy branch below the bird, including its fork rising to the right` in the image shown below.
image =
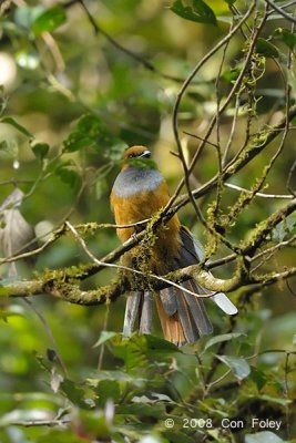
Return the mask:
M 254 255 L 264 243 L 268 240 L 267 236 L 272 229 L 285 219 L 289 214 L 296 209 L 296 198 L 289 202 L 284 208 L 278 209 L 272 214 L 266 220 L 262 222 L 253 236 L 245 241 L 242 246 L 241 255 L 236 257 L 237 269 L 233 277 L 226 280 L 215 278 L 206 270 L 201 268 L 201 265 L 193 265 L 187 268 L 178 269 L 163 276 L 160 280 L 159 276 L 145 276 L 145 284 L 152 287 L 155 291 L 166 288 L 172 282 L 180 284 L 194 278 L 201 286 L 212 291 L 231 292 L 242 286 L 257 285 L 261 287 L 272 285 L 278 280 L 287 279 L 296 275 L 296 268 L 293 267 L 283 272 L 271 272 L 265 275 L 251 275 L 248 271 L 248 257 Z M 137 237 L 143 237 L 145 231 L 142 231 Z M 126 241 L 131 244 L 135 239 Z M 122 246 L 122 250 L 126 248 Z M 119 255 L 118 249 L 118 255 Z M 99 264 L 85 265 L 79 268 L 65 268 L 55 271 L 43 272 L 38 279 L 31 281 L 20 281 L 7 285 L 1 288 L 0 293 L 4 297 L 28 297 L 32 295 L 40 295 L 42 292 L 49 293 L 53 297 L 62 298 L 67 301 L 78 305 L 102 305 L 104 302 L 116 300 L 122 293 L 127 290 L 134 290 L 134 284 L 131 284 L 126 274 L 122 274 L 119 281 L 114 281 L 109 286 L 101 287 L 95 290 L 82 291 L 76 284 L 72 281 L 83 280 L 86 277 L 98 272 L 102 269 L 105 262 L 110 259 L 115 259 L 115 255 L 109 255 L 100 260 Z M 143 276 L 136 284 L 143 285 Z M 208 296 L 205 296 L 208 297 Z

